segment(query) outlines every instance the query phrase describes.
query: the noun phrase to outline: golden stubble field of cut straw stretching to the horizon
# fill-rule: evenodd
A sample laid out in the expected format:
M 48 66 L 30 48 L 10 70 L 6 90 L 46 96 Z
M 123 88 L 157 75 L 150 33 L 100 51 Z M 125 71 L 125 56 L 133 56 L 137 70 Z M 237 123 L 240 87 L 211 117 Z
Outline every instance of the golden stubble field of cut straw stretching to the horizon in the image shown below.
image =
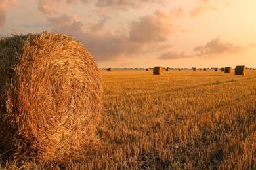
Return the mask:
M 256 169 L 256 71 L 100 73 L 98 141 L 83 163 L 51 168 Z

